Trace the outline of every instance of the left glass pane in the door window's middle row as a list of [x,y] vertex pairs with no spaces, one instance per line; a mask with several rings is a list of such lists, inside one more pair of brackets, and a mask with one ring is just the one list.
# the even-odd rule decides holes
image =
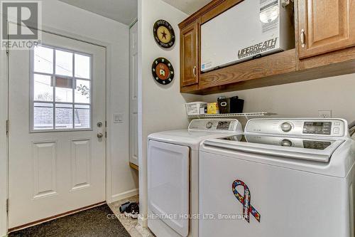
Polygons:
[[33,100],[53,101],[53,85],[50,75],[33,75]]

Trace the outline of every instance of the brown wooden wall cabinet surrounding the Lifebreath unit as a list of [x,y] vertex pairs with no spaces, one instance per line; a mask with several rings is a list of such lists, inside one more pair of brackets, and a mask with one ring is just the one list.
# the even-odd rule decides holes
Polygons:
[[212,0],[179,24],[181,93],[206,95],[355,73],[355,0],[295,0],[294,49],[201,73],[201,25],[241,1]]

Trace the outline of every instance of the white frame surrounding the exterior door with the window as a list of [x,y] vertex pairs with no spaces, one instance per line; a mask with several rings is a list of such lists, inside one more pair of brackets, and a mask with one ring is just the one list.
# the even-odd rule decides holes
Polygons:
[[[2,16],[1,16],[2,17]],[[4,20],[4,19],[3,19]],[[67,31],[62,31],[57,28],[50,26],[41,26],[41,31],[47,33],[53,33],[58,36],[65,38],[71,38],[76,41],[82,41],[83,43],[91,43],[96,46],[101,46],[105,48],[106,53],[106,121],[107,121],[107,131],[110,130],[111,123],[111,50],[113,46],[111,43],[99,41],[93,38],[87,38],[84,36],[77,35],[75,33],[70,33]],[[55,33],[54,33],[55,32]],[[8,62],[9,58],[6,56],[6,51],[0,51],[0,237],[6,236],[8,231],[8,215],[6,211],[6,199],[9,196],[9,154],[8,154],[8,137],[6,136],[6,120],[9,118],[9,90],[8,90]],[[105,190],[106,190],[106,201],[111,201],[112,196],[112,169],[111,169],[111,132],[107,132],[106,140],[106,177],[105,177]]]

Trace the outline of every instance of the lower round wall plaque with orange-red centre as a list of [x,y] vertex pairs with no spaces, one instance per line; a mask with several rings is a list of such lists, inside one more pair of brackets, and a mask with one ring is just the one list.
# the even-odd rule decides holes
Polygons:
[[154,80],[162,85],[168,85],[174,79],[173,65],[166,58],[157,58],[152,65]]

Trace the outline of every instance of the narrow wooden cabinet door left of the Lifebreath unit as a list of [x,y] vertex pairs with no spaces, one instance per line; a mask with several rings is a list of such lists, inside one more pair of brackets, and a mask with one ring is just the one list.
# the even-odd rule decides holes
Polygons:
[[180,33],[180,86],[199,83],[198,23],[182,28]]

